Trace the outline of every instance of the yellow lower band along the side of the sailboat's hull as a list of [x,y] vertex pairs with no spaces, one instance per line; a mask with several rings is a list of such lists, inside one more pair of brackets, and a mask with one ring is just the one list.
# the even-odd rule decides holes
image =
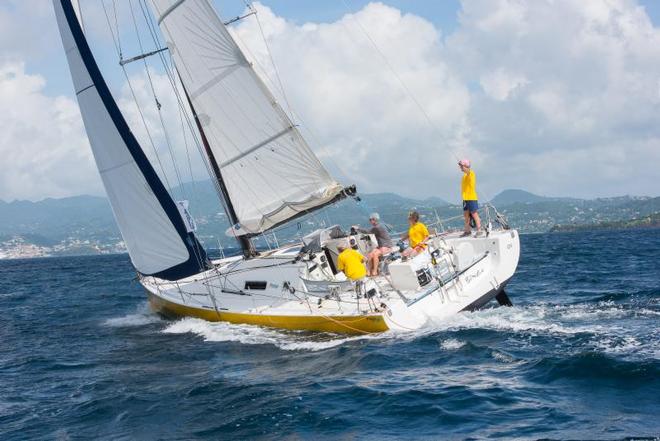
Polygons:
[[152,293],[148,293],[148,295],[151,308],[166,316],[196,317],[210,322],[229,322],[268,326],[271,328],[336,332],[341,334],[373,334],[384,332],[389,329],[381,314],[358,316],[304,316],[243,314],[226,311],[216,312],[211,309],[180,305],[165,300]]

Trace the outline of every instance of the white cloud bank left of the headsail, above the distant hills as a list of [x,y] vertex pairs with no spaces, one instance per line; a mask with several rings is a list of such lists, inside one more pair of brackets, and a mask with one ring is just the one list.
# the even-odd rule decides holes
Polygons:
[[77,103],[44,85],[23,63],[0,64],[0,199],[100,192]]

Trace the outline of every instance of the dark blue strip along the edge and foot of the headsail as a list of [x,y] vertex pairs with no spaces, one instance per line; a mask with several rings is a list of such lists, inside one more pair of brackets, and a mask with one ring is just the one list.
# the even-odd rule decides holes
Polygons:
[[87,44],[87,40],[85,39],[85,35],[83,34],[83,31],[80,27],[80,23],[78,22],[78,18],[73,9],[71,1],[60,1],[64,11],[64,16],[66,17],[67,23],[69,24],[71,34],[73,35],[73,38],[76,42],[80,56],[83,60],[83,63],[85,64],[85,67],[87,68],[87,71],[89,72],[89,76],[91,77],[94,86],[96,86],[96,91],[101,97],[106,111],[110,115],[110,118],[112,118],[112,121],[115,123],[117,131],[119,132],[121,138],[124,140],[126,148],[133,157],[133,160],[135,160],[135,163],[144,175],[147,184],[151,188],[151,191],[153,191],[156,199],[158,199],[158,202],[163,207],[167,217],[170,219],[170,222],[176,229],[177,233],[179,233],[183,244],[188,250],[189,258],[187,261],[158,273],[144,275],[155,276],[166,280],[177,280],[198,274],[201,271],[209,269],[211,264],[206,255],[206,251],[199,243],[194,233],[189,233],[187,231],[183,219],[181,218],[181,214],[179,213],[179,210],[174,203],[174,200],[167,192],[167,189],[165,189],[165,186],[156,174],[154,168],[151,166],[151,163],[147,159],[147,156],[144,154],[144,151],[140,147],[137,139],[135,139],[135,136],[133,136],[133,133],[131,133],[131,130],[126,123],[124,116],[119,111],[119,107],[117,107],[117,103],[112,97],[110,89],[108,89],[108,86],[106,85],[105,80],[101,75],[101,71],[96,64],[94,55],[92,54],[92,51]]

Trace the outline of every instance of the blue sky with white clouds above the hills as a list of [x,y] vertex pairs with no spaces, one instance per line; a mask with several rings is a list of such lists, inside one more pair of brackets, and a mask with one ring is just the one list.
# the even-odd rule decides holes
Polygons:
[[[129,4],[139,12],[141,1],[116,2],[124,57],[140,52]],[[245,10],[240,0],[214,4],[224,19]],[[87,36],[145,151],[161,160],[157,169],[170,184],[173,164],[184,181],[208,177],[186,154],[189,135],[176,130],[178,108],[156,60],[149,72],[160,115],[144,65],[123,75],[102,5],[114,17],[112,0],[82,0]],[[660,195],[657,0],[262,0],[255,7],[284,94],[254,17],[231,32],[280,102],[291,104],[331,173],[363,192],[457,201],[456,159],[465,157],[480,199],[507,188]],[[49,0],[0,2],[0,115],[0,199],[103,194]]]

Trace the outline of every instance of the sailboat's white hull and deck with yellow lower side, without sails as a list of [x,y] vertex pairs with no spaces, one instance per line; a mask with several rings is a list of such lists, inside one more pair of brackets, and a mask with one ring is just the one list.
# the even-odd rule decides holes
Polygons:
[[[515,230],[479,238],[436,236],[427,252],[393,261],[389,276],[366,279],[358,288],[327,265],[319,269],[322,257],[294,261],[299,250],[297,245],[249,260],[222,259],[193,277],[144,277],[141,283],[152,306],[169,315],[315,331],[405,331],[488,303],[513,276],[520,243]],[[413,286],[417,277],[406,276],[406,265],[425,268],[432,278]],[[369,294],[358,296],[356,289]]]

